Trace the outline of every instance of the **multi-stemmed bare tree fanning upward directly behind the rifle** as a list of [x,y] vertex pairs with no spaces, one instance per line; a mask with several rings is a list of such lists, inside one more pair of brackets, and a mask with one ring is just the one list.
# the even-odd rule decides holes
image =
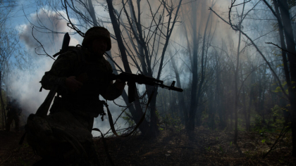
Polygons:
[[[166,48],[168,46],[168,41],[173,32],[173,27],[175,26],[175,23],[177,23],[178,11],[179,11],[181,2],[182,1],[179,1],[178,6],[174,7],[173,2],[171,2],[170,4],[169,1],[161,1],[161,4],[157,9],[156,13],[153,13],[152,8],[149,4],[149,1],[147,1],[147,4],[150,6],[150,13],[152,15],[152,20],[149,27],[144,27],[143,25],[141,25],[142,19],[140,14],[141,13],[140,1],[137,1],[137,11],[138,11],[137,18],[135,16],[135,9],[132,1],[128,1],[129,7],[130,7],[130,15],[126,10],[125,1],[122,1],[123,11],[125,12],[125,16],[128,20],[128,25],[129,25],[129,27],[124,26],[124,28],[128,28],[128,31],[130,31],[133,38],[137,42],[137,46],[140,46],[138,47],[138,49],[135,49],[136,48],[135,47],[136,44],[134,43],[135,41],[131,40],[130,42],[132,42],[132,48],[135,49],[134,51],[131,51],[126,45],[126,41],[125,41],[125,44],[123,44],[123,40],[121,39],[122,34],[121,34],[119,24],[116,20],[116,16],[112,12],[114,11],[113,5],[111,4],[111,1],[107,1],[111,22],[113,24],[113,29],[116,34],[116,39],[118,41],[118,47],[121,51],[121,58],[123,60],[125,71],[131,72],[128,58],[125,53],[126,51],[128,52],[129,57],[135,63],[137,70],[139,70],[141,73],[143,73],[144,75],[148,75],[149,77],[153,77],[155,72],[154,68],[158,66],[156,70],[157,72],[156,79],[159,79],[161,77],[161,70],[164,68]],[[163,10],[160,13],[160,16],[158,18],[159,22],[156,22],[156,14],[158,13],[161,6]],[[175,11],[174,15],[173,15],[173,11]],[[165,21],[164,15],[168,16],[167,23],[164,22]],[[163,29],[164,24],[167,24],[166,29]],[[164,34],[164,32],[166,32],[166,34]],[[161,40],[164,41],[164,46],[161,51],[161,56],[159,57],[158,51],[159,51],[159,44],[161,43]],[[133,52],[135,52],[136,55]],[[140,64],[138,64],[137,58],[140,59],[139,60]],[[142,68],[140,66],[142,66]],[[156,95],[157,95],[158,89],[157,87],[146,86],[146,91],[147,91],[147,96],[153,95],[152,101],[150,103],[149,134],[150,136],[155,137],[159,134],[159,127],[157,125],[157,123],[159,122],[159,117],[157,117],[156,115]]]

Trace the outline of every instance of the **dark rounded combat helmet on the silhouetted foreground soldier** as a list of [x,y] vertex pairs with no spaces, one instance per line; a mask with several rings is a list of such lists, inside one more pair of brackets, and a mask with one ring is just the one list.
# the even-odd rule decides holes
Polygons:
[[87,32],[85,32],[85,38],[82,41],[82,46],[89,45],[92,40],[102,37],[107,41],[107,49],[106,51],[110,51],[111,49],[111,38],[110,32],[104,27],[91,27]]

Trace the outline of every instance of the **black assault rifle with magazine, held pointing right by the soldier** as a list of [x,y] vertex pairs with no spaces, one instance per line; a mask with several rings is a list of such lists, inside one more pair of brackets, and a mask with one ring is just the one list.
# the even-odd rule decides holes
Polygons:
[[173,91],[180,91],[182,92],[183,89],[175,87],[175,81],[172,82],[171,86],[164,85],[164,81],[159,79],[155,79],[154,77],[148,77],[146,75],[134,75],[128,72],[121,72],[119,75],[110,75],[109,79],[121,79],[123,82],[128,82],[128,102],[132,103],[135,101],[135,83],[137,84],[146,84],[154,87],[161,87],[168,90]]

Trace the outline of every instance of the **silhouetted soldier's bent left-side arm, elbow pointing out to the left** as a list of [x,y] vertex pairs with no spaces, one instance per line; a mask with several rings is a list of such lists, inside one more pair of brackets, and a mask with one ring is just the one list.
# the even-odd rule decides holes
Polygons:
[[73,51],[61,55],[51,67],[51,70],[45,72],[41,84],[44,89],[51,89],[55,84],[66,88],[66,79],[70,77],[70,71],[75,68],[78,56]]

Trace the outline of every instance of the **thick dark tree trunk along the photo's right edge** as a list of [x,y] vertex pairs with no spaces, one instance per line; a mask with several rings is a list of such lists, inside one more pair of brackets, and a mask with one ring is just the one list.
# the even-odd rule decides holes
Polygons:
[[274,8],[272,8],[266,0],[264,0],[264,3],[269,7],[278,21],[277,23],[280,34],[280,47],[282,49],[285,81],[287,82],[289,92],[289,94],[286,96],[288,96],[290,101],[293,145],[292,155],[296,156],[296,50],[291,25],[292,20],[290,19],[290,11],[287,0],[273,0]]

